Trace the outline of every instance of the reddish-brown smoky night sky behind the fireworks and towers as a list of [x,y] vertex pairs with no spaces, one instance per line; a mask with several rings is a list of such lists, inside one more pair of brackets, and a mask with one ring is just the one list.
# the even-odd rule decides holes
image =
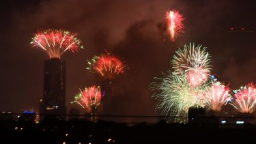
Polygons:
[[[0,111],[38,111],[43,96],[44,60],[41,48],[32,48],[33,33],[44,29],[66,29],[78,33],[85,49],[66,52],[66,106],[79,88],[98,83],[100,77],[85,68],[87,59],[112,51],[128,65],[115,80],[113,115],[158,115],[150,96],[154,77],[171,69],[177,48],[195,42],[212,56],[212,74],[238,89],[256,83],[256,9],[254,1],[1,1]],[[169,40],[165,11],[183,14],[184,31]],[[244,28],[244,31],[230,32]],[[246,32],[246,31],[251,32]],[[166,40],[166,41],[165,41]]]

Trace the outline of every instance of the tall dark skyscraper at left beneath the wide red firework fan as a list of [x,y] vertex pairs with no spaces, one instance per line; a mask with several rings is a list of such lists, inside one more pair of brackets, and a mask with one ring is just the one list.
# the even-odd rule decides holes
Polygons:
[[66,62],[60,59],[44,61],[44,96],[40,99],[43,120],[64,119],[66,87]]

